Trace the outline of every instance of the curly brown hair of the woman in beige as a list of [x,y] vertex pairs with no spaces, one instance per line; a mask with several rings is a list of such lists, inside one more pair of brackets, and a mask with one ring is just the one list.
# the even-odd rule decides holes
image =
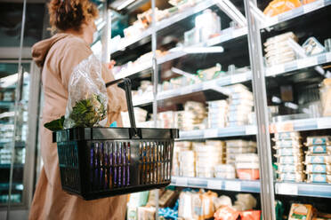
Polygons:
[[74,29],[79,31],[81,25],[98,17],[95,4],[89,0],[52,0],[48,4],[52,32]]

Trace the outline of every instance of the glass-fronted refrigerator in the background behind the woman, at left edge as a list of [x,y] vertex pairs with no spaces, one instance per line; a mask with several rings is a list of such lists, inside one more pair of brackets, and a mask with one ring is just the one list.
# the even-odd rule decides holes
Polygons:
[[31,61],[22,62],[20,80],[17,61],[2,60],[0,66],[3,67],[0,78],[0,207],[8,205],[11,194],[12,207],[26,208],[35,184],[36,106],[40,78]]

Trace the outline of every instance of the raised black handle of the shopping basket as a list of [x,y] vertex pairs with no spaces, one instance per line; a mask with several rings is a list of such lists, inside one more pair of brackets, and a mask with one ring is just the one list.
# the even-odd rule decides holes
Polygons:
[[130,124],[134,132],[133,135],[137,135],[138,132],[137,132],[137,127],[135,126],[134,113],[133,113],[133,98],[131,95],[131,80],[129,78],[121,78],[106,83],[106,87],[122,82],[125,84],[126,105],[127,105],[127,111],[129,112]]

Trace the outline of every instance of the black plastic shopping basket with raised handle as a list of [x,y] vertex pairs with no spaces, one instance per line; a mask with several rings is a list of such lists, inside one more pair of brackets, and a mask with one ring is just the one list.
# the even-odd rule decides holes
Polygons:
[[131,128],[73,128],[53,132],[62,189],[85,200],[170,184],[175,129],[136,128],[131,81],[124,82]]

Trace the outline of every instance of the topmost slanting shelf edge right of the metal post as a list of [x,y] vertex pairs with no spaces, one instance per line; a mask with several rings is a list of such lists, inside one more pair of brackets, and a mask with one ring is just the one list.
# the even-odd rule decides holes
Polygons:
[[281,22],[295,19],[295,18],[302,16],[304,14],[307,14],[309,12],[318,11],[319,9],[321,9],[323,7],[327,7],[330,4],[331,4],[330,0],[318,0],[318,1],[312,2],[310,4],[303,4],[303,6],[301,6],[301,7],[295,8],[288,12],[283,12],[283,13],[279,14],[278,16],[271,17],[264,23],[264,26],[262,26],[262,28],[274,26]]

